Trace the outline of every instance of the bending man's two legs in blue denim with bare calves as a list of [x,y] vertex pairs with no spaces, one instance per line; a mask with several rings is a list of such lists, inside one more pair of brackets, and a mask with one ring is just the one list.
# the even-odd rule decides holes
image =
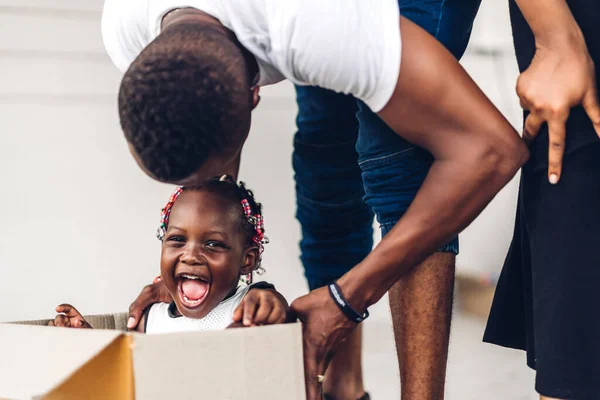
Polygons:
[[[398,3],[402,16],[427,30],[456,58],[462,56],[480,0]],[[297,218],[302,263],[314,290],[337,280],[371,252],[373,211],[385,235],[406,212],[433,160],[350,95],[299,85],[296,93]],[[369,159],[387,161],[373,165]],[[399,194],[374,196],[370,191],[367,205],[359,161],[371,179],[395,171],[393,182],[387,183]],[[457,253],[455,238],[388,292],[405,399],[443,398]],[[365,393],[360,338],[359,326],[327,368],[323,391],[331,399],[361,399]]]

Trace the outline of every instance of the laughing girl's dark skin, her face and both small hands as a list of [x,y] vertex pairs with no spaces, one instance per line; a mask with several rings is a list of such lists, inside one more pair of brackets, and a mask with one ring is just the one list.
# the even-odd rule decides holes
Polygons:
[[[188,318],[205,317],[223,300],[231,297],[240,276],[254,271],[258,247],[249,244],[241,229],[241,206],[207,191],[184,191],[173,205],[161,251],[160,281],[175,301],[179,313]],[[196,277],[206,283],[203,301],[190,307],[183,297],[182,281]],[[60,313],[50,326],[91,328],[69,304],[56,308]],[[283,323],[288,304],[275,290],[252,289],[234,311],[234,320],[244,326]],[[143,331],[143,319],[137,331]]]

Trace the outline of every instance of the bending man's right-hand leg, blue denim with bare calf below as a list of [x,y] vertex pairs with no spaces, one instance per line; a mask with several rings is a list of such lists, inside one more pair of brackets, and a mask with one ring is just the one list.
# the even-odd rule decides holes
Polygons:
[[[457,58],[466,48],[480,0],[399,0],[401,13],[426,29]],[[367,202],[385,235],[406,211],[433,161],[395,135],[361,104],[357,144]],[[414,268],[389,292],[402,399],[444,397],[452,298],[455,240]]]

